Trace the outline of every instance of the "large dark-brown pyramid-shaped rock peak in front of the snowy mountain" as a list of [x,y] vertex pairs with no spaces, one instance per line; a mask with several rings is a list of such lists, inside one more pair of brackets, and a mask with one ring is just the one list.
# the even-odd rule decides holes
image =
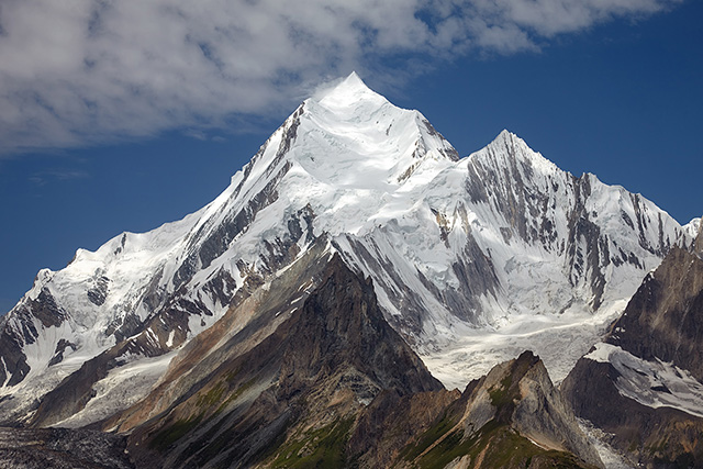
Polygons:
[[[140,464],[160,458],[168,467],[247,467],[301,432],[326,428],[346,438],[356,414],[381,390],[412,395],[442,389],[388,325],[370,282],[338,256],[304,302],[278,313],[283,322],[248,350],[239,348],[242,355],[217,354],[217,366],[196,382],[189,375],[175,379],[189,381],[179,388],[186,393],[132,432]],[[258,334],[254,320],[226,348],[237,350],[235,343]],[[107,425],[127,429],[135,413]]]

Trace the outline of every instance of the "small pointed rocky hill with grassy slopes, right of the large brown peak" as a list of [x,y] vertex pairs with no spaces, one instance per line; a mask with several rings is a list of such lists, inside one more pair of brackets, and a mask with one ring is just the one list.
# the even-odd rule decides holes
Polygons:
[[411,467],[602,467],[531,351],[469,383],[406,451]]

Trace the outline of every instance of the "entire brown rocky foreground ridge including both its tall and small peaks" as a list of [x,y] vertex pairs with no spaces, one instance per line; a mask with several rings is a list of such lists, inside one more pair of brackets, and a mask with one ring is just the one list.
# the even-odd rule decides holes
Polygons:
[[[186,350],[171,371],[203,369],[144,401],[158,413],[137,405],[104,424],[130,434],[137,467],[601,466],[537,357],[446,391],[386,322],[370,281],[328,256],[306,260],[315,287],[293,311],[252,297],[247,326],[211,340],[231,355]],[[261,310],[283,319],[254,339]]]

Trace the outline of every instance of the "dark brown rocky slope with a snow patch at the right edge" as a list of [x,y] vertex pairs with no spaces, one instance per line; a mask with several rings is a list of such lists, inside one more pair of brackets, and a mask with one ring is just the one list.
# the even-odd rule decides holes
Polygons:
[[647,467],[703,467],[703,259],[674,248],[562,391]]

